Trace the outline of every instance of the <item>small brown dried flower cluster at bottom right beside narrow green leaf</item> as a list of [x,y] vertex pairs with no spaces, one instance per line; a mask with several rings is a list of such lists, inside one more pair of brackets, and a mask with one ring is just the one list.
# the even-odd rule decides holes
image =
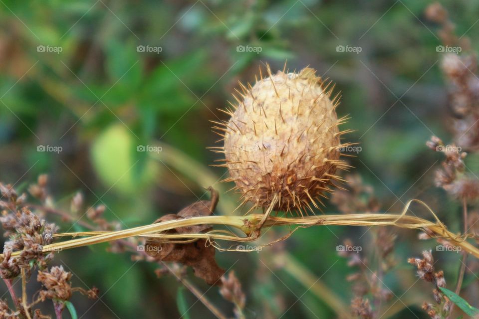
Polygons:
[[446,279],[442,270],[436,272],[434,269],[434,258],[429,251],[423,251],[423,259],[409,258],[408,263],[415,265],[418,269],[419,278],[429,283],[434,283],[436,288],[433,290],[433,296],[436,304],[424,303],[423,309],[427,311],[431,319],[449,319],[452,302],[444,296],[439,287],[446,287]]

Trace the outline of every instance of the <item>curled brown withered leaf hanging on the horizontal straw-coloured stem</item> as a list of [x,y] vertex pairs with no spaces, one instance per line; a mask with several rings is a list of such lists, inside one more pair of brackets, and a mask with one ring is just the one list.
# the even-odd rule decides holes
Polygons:
[[[216,208],[219,195],[212,187],[209,188],[211,192],[211,200],[197,201],[185,208],[178,214],[168,214],[157,219],[155,223],[165,221],[191,218],[199,216],[210,216]],[[212,230],[211,225],[193,225],[178,227],[170,229],[163,234],[194,234],[206,233]],[[221,283],[221,276],[225,270],[220,268],[215,260],[215,247],[207,246],[205,239],[198,239],[194,242],[181,244],[169,243],[160,240],[159,238],[148,238],[145,243],[145,252],[165,262],[176,262],[193,268],[195,275],[202,278],[209,285],[216,285]]]

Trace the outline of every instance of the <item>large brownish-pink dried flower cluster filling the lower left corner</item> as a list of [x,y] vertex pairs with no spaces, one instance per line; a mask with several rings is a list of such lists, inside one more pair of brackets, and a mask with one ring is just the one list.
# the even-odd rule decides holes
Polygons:
[[[46,191],[47,176],[40,175],[38,182],[29,187],[30,193],[41,201],[47,201],[48,193]],[[63,268],[52,267],[47,269],[47,263],[53,258],[53,252],[45,254],[42,252],[43,246],[53,242],[53,234],[58,227],[52,223],[47,223],[44,219],[34,214],[26,207],[26,194],[18,196],[11,185],[0,183],[1,211],[0,223],[4,229],[4,236],[8,237],[3,246],[3,257],[0,262],[0,277],[3,279],[10,292],[15,310],[9,308],[5,301],[0,301],[0,319],[46,319],[41,312],[31,309],[27,300],[17,298],[12,288],[12,280],[21,276],[22,283],[26,283],[31,273],[38,268],[37,280],[41,282],[44,290],[39,291],[38,298],[32,302],[35,305],[51,299],[54,304],[57,318],[61,318],[61,312],[64,308],[63,302],[70,299],[72,292],[79,291],[89,298],[96,298],[98,291],[93,288],[84,290],[81,288],[72,288],[70,279],[71,273],[65,272]],[[81,206],[80,198],[76,197],[77,207]],[[44,209],[48,210],[48,209]],[[20,254],[12,257],[13,251],[20,251]],[[22,286],[25,290],[26,286]],[[23,292],[26,295],[26,291]]]

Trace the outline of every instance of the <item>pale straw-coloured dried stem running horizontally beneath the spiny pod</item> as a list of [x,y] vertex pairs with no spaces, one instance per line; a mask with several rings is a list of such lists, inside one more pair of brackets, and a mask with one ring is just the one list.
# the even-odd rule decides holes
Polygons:
[[[406,215],[409,206],[413,201],[417,201],[427,207],[431,214],[435,217],[436,222],[432,222],[416,216]],[[177,227],[185,227],[202,224],[216,224],[227,225],[235,227],[243,231],[246,237],[238,237],[233,235],[223,235],[215,232],[208,234],[180,234],[180,235],[165,235],[155,234],[157,238],[164,238],[165,240],[175,238],[183,239],[198,239],[208,238],[212,240],[230,240],[236,242],[253,241],[257,237],[251,236],[257,230],[257,225],[264,218],[262,214],[251,214],[247,216],[203,216],[193,217],[187,219],[171,220],[146,226],[139,226],[130,229],[105,232],[98,235],[93,235],[85,238],[77,238],[63,242],[45,245],[43,251],[58,251],[63,249],[70,249],[75,247],[82,247],[103,242],[109,242],[119,239],[124,239],[132,236],[142,236],[147,234],[154,234],[164,232],[169,229]],[[433,237],[445,238],[451,241],[452,244],[461,247],[465,252],[479,258],[479,249],[466,241],[465,237],[460,234],[454,234],[447,230],[446,226],[437,218],[436,214],[424,203],[419,200],[411,200],[408,202],[401,214],[338,214],[338,215],[322,215],[322,216],[305,216],[305,217],[269,217],[263,227],[297,225],[302,227],[321,226],[321,225],[339,225],[339,226],[397,226],[408,229],[421,229],[427,231]],[[77,236],[84,235],[83,233],[70,233]],[[88,233],[87,233],[88,234]],[[61,234],[60,234],[61,235]],[[20,252],[12,253],[12,256],[18,255]]]

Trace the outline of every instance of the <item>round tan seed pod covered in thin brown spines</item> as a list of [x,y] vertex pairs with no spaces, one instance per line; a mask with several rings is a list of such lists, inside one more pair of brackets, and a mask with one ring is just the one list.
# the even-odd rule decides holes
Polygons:
[[[340,132],[345,122],[336,114],[339,94],[330,99],[332,89],[325,85],[315,70],[304,68],[299,73],[278,71],[256,79],[253,87],[240,83],[242,92],[224,111],[231,116],[224,123],[214,122],[223,137],[224,147],[213,148],[225,154],[225,164],[242,199],[253,207],[276,211],[299,211],[331,192],[337,168],[349,167],[340,160]],[[220,141],[222,141],[220,140]],[[321,203],[322,204],[322,203]]]

